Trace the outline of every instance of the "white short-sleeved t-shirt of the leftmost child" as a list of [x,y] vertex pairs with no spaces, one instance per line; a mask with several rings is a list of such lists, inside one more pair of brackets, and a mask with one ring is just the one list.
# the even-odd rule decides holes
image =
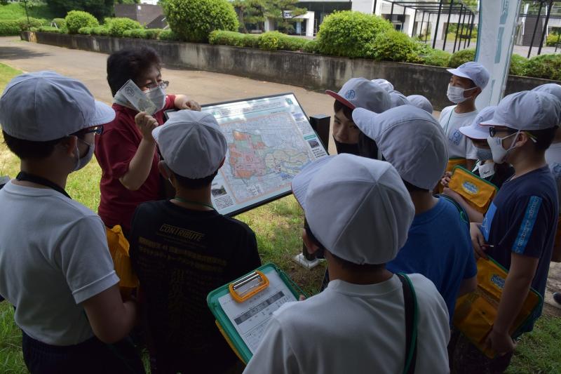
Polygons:
[[0,206],[0,295],[15,323],[49,345],[91,338],[81,302],[119,282],[102,220],[53,189],[13,182]]

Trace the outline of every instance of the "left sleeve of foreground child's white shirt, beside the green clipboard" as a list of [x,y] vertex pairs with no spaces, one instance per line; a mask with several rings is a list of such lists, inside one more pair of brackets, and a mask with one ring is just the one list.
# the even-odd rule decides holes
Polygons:
[[283,327],[276,318],[271,318],[257,351],[243,373],[296,374],[301,372],[290,342],[283,333]]

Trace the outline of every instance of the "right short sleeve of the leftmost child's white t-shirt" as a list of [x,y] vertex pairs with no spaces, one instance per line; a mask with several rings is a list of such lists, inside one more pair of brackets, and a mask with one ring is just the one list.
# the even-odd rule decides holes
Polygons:
[[119,283],[99,217],[86,216],[73,222],[62,234],[55,260],[76,304]]

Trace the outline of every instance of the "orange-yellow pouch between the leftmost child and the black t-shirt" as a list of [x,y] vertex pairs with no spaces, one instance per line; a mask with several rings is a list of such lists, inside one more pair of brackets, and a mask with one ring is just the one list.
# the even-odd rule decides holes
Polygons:
[[109,245],[109,253],[113,258],[115,265],[115,272],[119,276],[119,287],[137,288],[138,278],[133,272],[133,267],[130,265],[130,257],[128,256],[128,241],[123,234],[121,226],[116,225],[112,229],[105,227],[107,233],[107,244]]

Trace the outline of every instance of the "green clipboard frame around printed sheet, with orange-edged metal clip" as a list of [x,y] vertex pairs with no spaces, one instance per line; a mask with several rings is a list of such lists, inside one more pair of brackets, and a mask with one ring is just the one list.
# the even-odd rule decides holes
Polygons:
[[[271,278],[273,276],[280,278],[280,280],[284,283],[286,288],[288,288],[288,290],[290,290],[290,293],[292,294],[292,295],[285,295],[287,299],[293,298],[293,300],[286,300],[286,301],[297,301],[299,295],[305,296],[304,292],[299,288],[299,286],[296,283],[294,283],[294,281],[292,281],[292,279],[290,279],[288,275],[286,275],[285,272],[280,270],[276,265],[268,263],[266,265],[263,265],[262,267],[257,268],[255,271],[262,272],[262,274],[264,274],[267,278]],[[231,349],[234,350],[234,352],[239,357],[239,359],[241,359],[241,361],[243,361],[243,363],[245,364],[247,364],[250,361],[253,354],[250,348],[248,347],[248,345],[246,345],[241,335],[238,333],[238,330],[236,330],[236,328],[234,327],[235,322],[232,319],[233,317],[228,316],[227,313],[224,312],[224,309],[222,309],[222,305],[220,304],[219,300],[226,295],[230,295],[231,284],[235,284],[243,279],[248,279],[248,277],[252,276],[252,274],[254,274],[255,271],[249,272],[248,274],[241,276],[235,281],[225,284],[224,286],[211,291],[206,298],[206,302],[208,304],[210,312],[212,312],[212,314],[214,314],[216,318],[217,328],[220,330],[220,333],[222,333],[222,335],[224,336],[224,339],[227,340]],[[264,290],[262,290],[261,292],[264,292]],[[259,294],[257,293],[257,295]],[[252,298],[251,300],[238,303],[238,305],[244,305],[246,302],[257,303],[257,305],[255,305],[254,307],[250,307],[250,304],[248,304],[248,308],[250,309],[248,309],[247,313],[255,312],[255,310],[262,308],[263,305],[267,305],[267,306],[270,305],[268,304],[270,300],[255,301],[259,297],[257,295],[255,296],[255,298]],[[227,300],[227,299],[223,299],[223,300]],[[232,298],[231,302],[236,302],[236,301]],[[238,319],[234,318],[234,320],[238,320]]]

